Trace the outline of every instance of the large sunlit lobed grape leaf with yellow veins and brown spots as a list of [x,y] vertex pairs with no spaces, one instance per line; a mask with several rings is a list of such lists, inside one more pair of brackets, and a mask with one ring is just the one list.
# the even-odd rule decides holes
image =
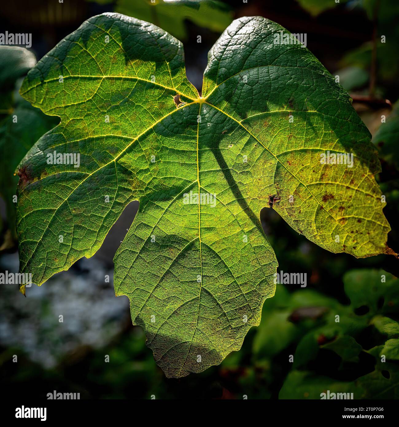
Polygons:
[[[139,200],[114,287],[168,377],[220,363],[259,325],[277,269],[262,208],[331,252],[392,253],[369,132],[309,50],[273,43],[280,30],[234,21],[210,51],[200,97],[179,41],[107,13],[21,88],[61,117],[18,168],[21,272],[42,284],[92,256]],[[47,164],[54,150],[80,154],[80,167]],[[321,164],[326,150],[353,153],[353,167]]]

